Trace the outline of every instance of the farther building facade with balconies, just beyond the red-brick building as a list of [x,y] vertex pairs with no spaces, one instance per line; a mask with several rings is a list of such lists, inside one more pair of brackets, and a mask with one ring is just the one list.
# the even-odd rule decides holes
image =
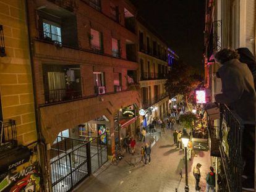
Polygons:
[[153,119],[163,119],[169,110],[169,97],[164,84],[174,59],[178,57],[140,17],[138,35],[142,109],[147,112],[143,117],[143,126],[147,127]]

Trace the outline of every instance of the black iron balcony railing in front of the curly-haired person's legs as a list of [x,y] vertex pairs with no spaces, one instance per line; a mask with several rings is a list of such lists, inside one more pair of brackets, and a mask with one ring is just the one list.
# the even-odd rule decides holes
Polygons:
[[[220,105],[220,154],[226,175],[225,188],[232,192],[242,191],[242,144],[245,125],[242,119],[226,105]],[[223,128],[226,126],[227,128]],[[252,125],[255,126],[255,125]],[[228,130],[228,131],[226,131]]]

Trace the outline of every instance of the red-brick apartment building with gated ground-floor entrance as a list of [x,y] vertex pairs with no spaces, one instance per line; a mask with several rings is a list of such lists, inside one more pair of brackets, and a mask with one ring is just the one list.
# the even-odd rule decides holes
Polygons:
[[[72,190],[95,172],[113,154],[115,136],[132,131],[137,121],[135,14],[129,1],[28,1],[36,111],[46,145],[41,154],[51,191]],[[126,120],[122,110],[134,111],[134,118]]]

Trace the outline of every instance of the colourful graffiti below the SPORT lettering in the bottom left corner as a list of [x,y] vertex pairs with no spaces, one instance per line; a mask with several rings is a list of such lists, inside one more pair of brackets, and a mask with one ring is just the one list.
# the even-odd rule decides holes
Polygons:
[[40,173],[36,154],[30,161],[0,175],[0,192],[40,191]]

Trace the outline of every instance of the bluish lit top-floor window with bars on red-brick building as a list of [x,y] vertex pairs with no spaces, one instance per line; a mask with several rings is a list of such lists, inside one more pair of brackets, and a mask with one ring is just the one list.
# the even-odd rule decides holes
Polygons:
[[61,26],[57,23],[43,20],[43,37],[46,40],[61,43]]

